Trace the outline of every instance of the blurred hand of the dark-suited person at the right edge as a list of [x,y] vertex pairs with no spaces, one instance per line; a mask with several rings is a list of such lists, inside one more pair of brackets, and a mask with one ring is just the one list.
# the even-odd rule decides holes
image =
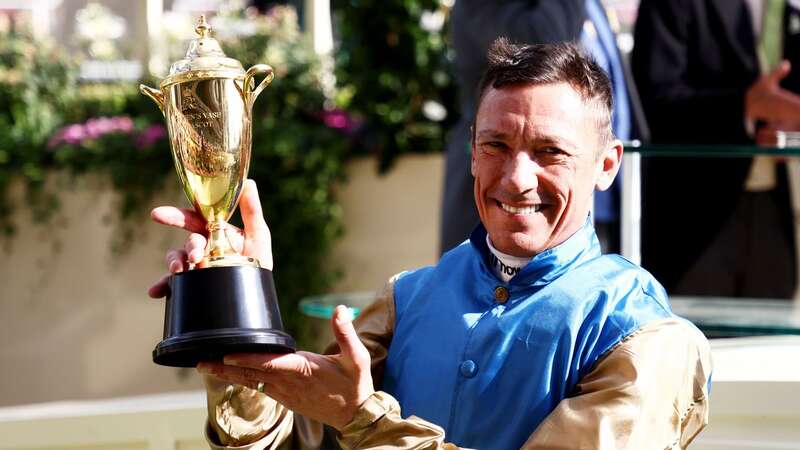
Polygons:
[[783,89],[781,80],[792,70],[789,61],[762,75],[745,94],[745,118],[753,122],[792,123],[800,117],[800,95]]

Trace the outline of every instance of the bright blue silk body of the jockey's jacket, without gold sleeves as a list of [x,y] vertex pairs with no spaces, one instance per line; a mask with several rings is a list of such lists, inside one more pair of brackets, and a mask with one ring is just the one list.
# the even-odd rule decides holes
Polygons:
[[394,298],[382,389],[404,417],[482,450],[520,448],[599,358],[673,317],[648,272],[601,255],[588,221],[508,283],[492,272],[479,227],[436,266],[403,274]]

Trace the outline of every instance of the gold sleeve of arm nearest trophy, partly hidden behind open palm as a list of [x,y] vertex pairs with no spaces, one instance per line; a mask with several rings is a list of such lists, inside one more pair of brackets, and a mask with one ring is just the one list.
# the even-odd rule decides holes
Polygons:
[[[380,386],[383,365],[394,334],[393,277],[377,294],[375,302],[353,322],[361,342],[372,358],[372,379]],[[336,344],[324,353],[338,353]],[[266,395],[244,386],[230,385],[213,376],[204,376],[208,398],[206,440],[212,449],[319,448],[334,437],[325,436],[325,428],[293,414]],[[377,389],[377,388],[376,388]]]

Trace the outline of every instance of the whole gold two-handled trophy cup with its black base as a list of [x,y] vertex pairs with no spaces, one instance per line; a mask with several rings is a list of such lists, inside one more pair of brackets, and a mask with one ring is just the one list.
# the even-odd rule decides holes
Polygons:
[[[139,86],[166,118],[181,185],[209,232],[202,268],[169,280],[164,340],[153,361],[173,367],[231,353],[295,350],[283,331],[272,272],[236,253],[226,234],[250,165],[253,102],[272,81],[272,68],[258,64],[245,72],[209,35],[205,16],[196,31],[160,90]],[[258,75],[264,79],[256,84]]]

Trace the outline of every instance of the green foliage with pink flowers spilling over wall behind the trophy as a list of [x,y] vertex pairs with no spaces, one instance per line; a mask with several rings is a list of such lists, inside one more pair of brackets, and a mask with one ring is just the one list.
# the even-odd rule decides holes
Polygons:
[[[250,177],[272,229],[283,318],[297,333],[297,302],[324,292],[335,276],[323,262],[341,233],[331,187],[342,177],[348,140],[325,126],[333,86],[325,85],[322,61],[298,30],[294,11],[278,8],[247,21],[254,34],[219,40],[245,68],[267,63],[276,69],[253,112]],[[56,193],[46,192],[48,173],[100,174],[119,194],[114,226],[122,231],[116,243],[122,248],[133,229],[125,219],[141,223],[152,195],[178,183],[164,119],[138,83],[80,84],[76,73],[75,63],[51,44],[15,30],[0,35],[0,224],[13,230],[12,177],[26,180],[27,206],[46,220],[57,207]]]

